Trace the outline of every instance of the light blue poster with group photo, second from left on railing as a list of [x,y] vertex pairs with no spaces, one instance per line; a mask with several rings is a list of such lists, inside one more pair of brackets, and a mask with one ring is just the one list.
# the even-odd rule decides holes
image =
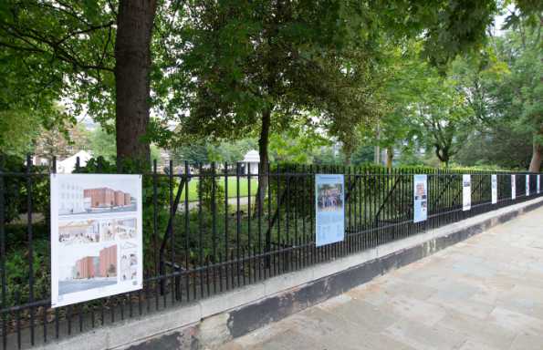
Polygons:
[[345,239],[345,179],[342,174],[315,175],[315,238],[322,246]]

